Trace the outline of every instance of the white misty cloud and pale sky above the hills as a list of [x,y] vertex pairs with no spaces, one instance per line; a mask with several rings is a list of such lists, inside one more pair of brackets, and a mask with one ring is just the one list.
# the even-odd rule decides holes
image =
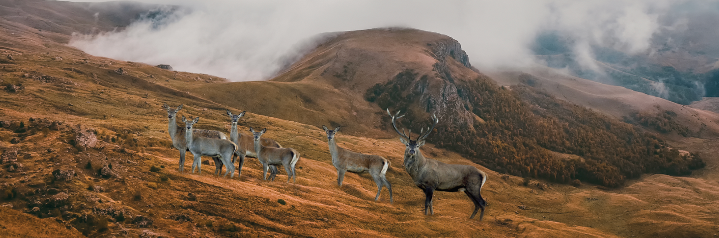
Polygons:
[[[91,55],[231,81],[271,78],[318,42],[317,35],[377,27],[412,27],[449,35],[477,68],[536,63],[531,47],[541,32],[569,37],[577,60],[592,67],[591,45],[629,54],[651,50],[662,19],[682,0],[157,0],[183,6],[162,19],[122,31],[73,35],[70,45]],[[162,10],[162,8],[160,9]],[[663,20],[663,21],[660,21]]]

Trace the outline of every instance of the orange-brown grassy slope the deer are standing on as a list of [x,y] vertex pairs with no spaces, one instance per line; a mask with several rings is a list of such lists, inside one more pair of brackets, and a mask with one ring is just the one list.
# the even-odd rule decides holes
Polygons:
[[[0,92],[0,156],[7,158],[0,172],[1,199],[14,209],[0,210],[5,216],[24,212],[32,215],[27,222],[36,224],[39,219],[56,217],[40,224],[58,222],[60,227],[70,227],[72,234],[89,237],[709,237],[719,229],[717,218],[707,216],[719,212],[719,189],[707,180],[646,175],[611,191],[591,185],[546,186],[541,180],[528,180],[528,186],[523,186],[522,178],[500,175],[431,144],[423,147],[429,156],[487,172],[489,180],[482,191],[490,206],[485,221],[468,220],[467,209],[472,204],[464,194],[436,193],[435,215],[424,216],[423,194],[401,166],[403,145],[395,138],[381,138],[394,137],[386,131],[379,139],[362,136],[379,132],[377,128],[388,123],[380,114],[372,115],[382,109],[363,99],[366,89],[375,85],[372,83],[383,81],[370,81],[365,91],[365,86],[357,86],[359,90],[347,86],[349,93],[342,87],[302,81],[227,85],[224,79],[211,75],[86,55],[66,47],[61,40],[47,40],[22,24],[0,19],[0,26],[14,27],[17,33],[0,35],[1,42],[17,42],[0,50],[3,55],[12,55],[12,60],[5,56],[0,63],[1,79],[24,87],[17,92]],[[413,30],[399,36],[403,34],[427,33]],[[452,75],[473,73],[458,56],[460,60],[444,58],[447,65],[457,68]],[[337,67],[344,73],[344,65]],[[414,72],[424,73],[422,70],[416,68]],[[387,73],[384,80],[395,81],[400,73],[403,70]],[[236,84],[238,90],[246,86],[247,99],[242,100],[247,105],[261,106],[249,110],[244,103],[230,104],[213,98],[219,93],[208,89]],[[319,96],[316,88],[349,95],[344,100],[352,99],[350,96],[362,100],[370,111],[367,115],[376,116],[358,119],[362,127],[351,134],[343,130],[338,139],[342,147],[383,155],[391,161],[388,179],[393,183],[395,203],[388,203],[386,190],[379,202],[372,201],[375,185],[367,174],[348,174],[344,186],[335,186],[336,171],[325,136],[318,128],[333,115],[316,119],[311,112],[319,110],[310,111],[304,113],[306,119],[298,119],[300,122],[260,115],[284,104],[334,105],[339,101]],[[300,104],[298,99],[283,98],[289,91],[313,101]],[[277,100],[286,101],[262,104],[262,94],[273,93],[279,95]],[[180,114],[201,116],[197,127],[223,132],[229,132],[225,109],[248,110],[241,130],[267,127],[267,137],[302,153],[298,183],[280,182],[283,174],[277,182],[259,180],[260,166],[252,158],[239,179],[216,178],[210,174],[211,165],[205,165],[202,175],[179,173],[179,155],[171,147],[165,131],[166,114],[160,109],[164,103],[185,104]],[[336,114],[352,114],[347,108],[336,107],[344,110]],[[76,134],[87,130],[99,139],[94,147],[83,147],[75,140]],[[17,157],[12,156],[14,152]],[[153,166],[160,170],[151,172]],[[2,224],[0,234],[4,227],[27,227],[17,221]]]

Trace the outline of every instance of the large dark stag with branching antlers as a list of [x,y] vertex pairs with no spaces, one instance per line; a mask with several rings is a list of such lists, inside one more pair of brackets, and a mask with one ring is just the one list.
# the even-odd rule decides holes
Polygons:
[[475,211],[472,212],[470,219],[474,219],[477,210],[482,209],[482,213],[480,213],[480,221],[482,221],[487,202],[482,198],[480,191],[482,191],[482,186],[484,186],[487,181],[487,174],[471,165],[441,163],[437,160],[424,157],[421,150],[419,150],[419,147],[424,145],[425,139],[439,122],[437,116],[432,114],[432,121],[434,123],[431,128],[427,127],[427,132],[424,132],[423,128],[421,132],[419,132],[417,139],[411,139],[411,130],[408,136],[404,133],[404,129],[402,129],[402,132],[397,129],[396,120],[405,115],[398,116],[400,114],[399,111],[393,115],[389,109],[387,109],[387,114],[392,116],[392,127],[395,129],[395,132],[400,135],[400,142],[406,147],[404,155],[405,170],[412,177],[414,184],[418,188],[421,188],[426,196],[424,201],[424,214],[427,215],[429,211],[430,215],[434,215],[434,208],[432,207],[434,191],[463,191],[470,197],[470,200],[475,203]]

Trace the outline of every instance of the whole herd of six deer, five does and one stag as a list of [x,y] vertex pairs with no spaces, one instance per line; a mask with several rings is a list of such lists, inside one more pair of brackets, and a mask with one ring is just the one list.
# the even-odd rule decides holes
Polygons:
[[[168,104],[162,106],[163,109],[168,111],[168,119],[170,119],[168,132],[173,139],[173,146],[180,151],[180,172],[184,171],[185,153],[189,151],[193,155],[192,173],[195,173],[195,168],[198,169],[198,173],[201,173],[202,163],[200,157],[204,155],[212,157],[215,161],[216,175],[219,175],[222,165],[224,165],[227,168],[224,176],[229,173],[230,178],[234,178],[234,162],[235,158],[239,157],[239,168],[237,169],[239,178],[239,175],[242,174],[244,158],[249,156],[260,160],[263,169],[263,180],[267,180],[267,170],[270,170],[269,179],[275,180],[275,175],[278,173],[277,165],[283,165],[285,171],[287,171],[288,183],[290,178],[293,182],[296,180],[295,165],[300,158],[300,153],[292,148],[280,146],[273,139],[262,138],[262,134],[265,134],[267,129],[257,132],[252,127],[249,127],[249,132],[252,132],[252,135],[237,132],[237,122],[240,117],[244,116],[244,111],[239,114],[232,114],[231,111],[227,110],[227,115],[232,122],[232,129],[228,139],[222,132],[193,129],[193,125],[199,121],[199,117],[188,120],[185,116],[182,116],[185,127],[179,127],[176,122],[176,115],[182,107],[183,105],[180,105],[177,109],[173,109]],[[390,114],[390,111],[388,110],[387,113]],[[426,215],[428,212],[429,214],[434,214],[434,209],[432,208],[434,191],[463,191],[475,203],[475,211],[472,212],[470,219],[475,218],[477,211],[482,209],[480,213],[481,221],[482,216],[485,214],[487,203],[480,195],[480,191],[487,180],[487,174],[470,165],[446,164],[424,157],[419,147],[424,145],[425,139],[437,125],[439,119],[432,115],[432,127],[427,128],[426,132],[422,129],[417,139],[411,139],[411,131],[407,135],[404,129],[402,129],[402,132],[397,129],[396,120],[404,116],[398,115],[399,111],[394,115],[390,114],[392,116],[392,127],[400,135],[400,142],[406,146],[403,160],[405,170],[411,176],[415,185],[421,188],[426,196],[424,214]],[[347,171],[352,173],[369,172],[372,179],[377,183],[375,201],[380,198],[383,186],[387,186],[390,191],[390,203],[392,203],[392,186],[385,178],[385,173],[390,166],[389,160],[379,155],[365,155],[339,147],[335,140],[339,127],[328,129],[323,125],[322,128],[326,132],[329,141],[332,165],[337,169],[337,185],[342,186],[344,173]]]

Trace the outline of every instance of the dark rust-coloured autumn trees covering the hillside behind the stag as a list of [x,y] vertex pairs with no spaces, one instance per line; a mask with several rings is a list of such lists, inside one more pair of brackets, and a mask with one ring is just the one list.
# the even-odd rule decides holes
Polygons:
[[[367,99],[390,111],[412,111],[409,107],[418,105],[418,93],[411,82],[418,80],[408,78],[417,77],[400,73],[370,88]],[[500,173],[616,187],[644,173],[687,175],[705,165],[697,155],[681,155],[667,147],[655,134],[530,86],[510,90],[483,75],[455,84],[469,111],[484,122],[475,120],[473,129],[440,124],[428,142]],[[429,121],[416,117],[408,114],[406,120]],[[551,151],[581,158],[557,158]]]

